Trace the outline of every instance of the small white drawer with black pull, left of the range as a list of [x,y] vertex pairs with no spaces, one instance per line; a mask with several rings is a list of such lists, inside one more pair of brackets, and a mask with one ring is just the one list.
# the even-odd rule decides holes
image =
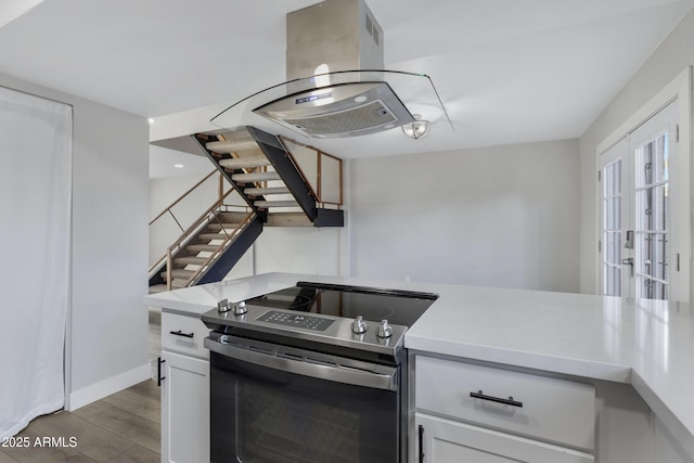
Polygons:
[[162,312],[162,349],[207,359],[209,351],[203,339],[208,334],[209,329],[196,316]]

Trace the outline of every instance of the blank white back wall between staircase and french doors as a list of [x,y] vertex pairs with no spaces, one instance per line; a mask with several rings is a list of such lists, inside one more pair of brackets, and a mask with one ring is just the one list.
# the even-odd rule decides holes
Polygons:
[[349,163],[351,275],[578,291],[578,141]]

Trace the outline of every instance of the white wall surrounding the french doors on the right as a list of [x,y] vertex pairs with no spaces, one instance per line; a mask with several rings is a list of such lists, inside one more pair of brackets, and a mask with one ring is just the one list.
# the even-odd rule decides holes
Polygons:
[[580,139],[580,292],[597,287],[597,158],[605,138],[648,102],[686,66],[694,64],[694,10],[660,43],[627,86],[615,97]]

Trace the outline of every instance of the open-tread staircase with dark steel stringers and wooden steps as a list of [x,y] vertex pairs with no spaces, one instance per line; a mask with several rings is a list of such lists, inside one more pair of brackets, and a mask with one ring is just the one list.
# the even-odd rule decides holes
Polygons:
[[[264,227],[344,226],[343,210],[339,209],[339,159],[331,156],[338,160],[340,201],[323,202],[320,159],[327,156],[324,153],[301,146],[316,156],[317,170],[311,181],[290,152],[292,146],[299,146],[295,142],[253,127],[192,137],[232,188],[222,195],[220,178],[219,201],[183,231],[166,255],[150,268],[150,293],[222,280],[253,245]],[[231,192],[245,204],[226,205],[224,198]],[[172,206],[167,209],[169,213]],[[178,223],[176,218],[174,220]]]

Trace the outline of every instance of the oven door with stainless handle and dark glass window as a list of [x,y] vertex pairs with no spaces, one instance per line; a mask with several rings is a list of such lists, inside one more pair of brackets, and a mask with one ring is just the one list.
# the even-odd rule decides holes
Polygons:
[[205,339],[213,463],[399,463],[397,368]]

